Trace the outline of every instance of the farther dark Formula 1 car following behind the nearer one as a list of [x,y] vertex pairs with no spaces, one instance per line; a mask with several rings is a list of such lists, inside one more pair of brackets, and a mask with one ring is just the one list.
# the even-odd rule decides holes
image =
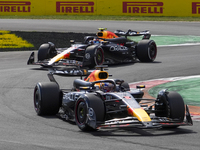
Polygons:
[[[143,36],[139,42],[129,40],[128,36]],[[116,30],[114,33],[99,28],[97,36],[86,36],[83,42],[71,41],[69,48],[56,48],[51,42],[42,44],[38,50],[38,61],[34,52],[27,64],[42,66],[73,65],[94,68],[102,64],[134,62],[153,62],[157,55],[155,41],[149,40],[149,31],[127,32]]]

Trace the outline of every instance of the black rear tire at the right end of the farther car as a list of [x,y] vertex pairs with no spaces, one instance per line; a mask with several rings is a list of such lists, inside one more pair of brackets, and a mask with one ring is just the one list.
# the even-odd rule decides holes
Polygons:
[[153,40],[138,42],[136,56],[141,62],[153,62],[156,59],[157,46]]

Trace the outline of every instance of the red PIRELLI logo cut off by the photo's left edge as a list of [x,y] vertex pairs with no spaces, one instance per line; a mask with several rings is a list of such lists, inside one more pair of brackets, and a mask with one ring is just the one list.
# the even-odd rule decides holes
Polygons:
[[31,12],[31,2],[29,1],[0,1],[1,12]]

